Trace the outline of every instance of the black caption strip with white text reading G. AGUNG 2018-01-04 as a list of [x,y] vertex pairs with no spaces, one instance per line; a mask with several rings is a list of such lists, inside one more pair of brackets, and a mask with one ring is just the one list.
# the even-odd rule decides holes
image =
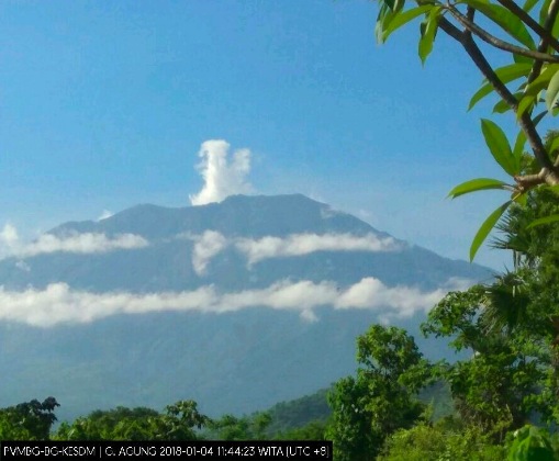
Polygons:
[[332,441],[2,441],[0,459],[332,460]]

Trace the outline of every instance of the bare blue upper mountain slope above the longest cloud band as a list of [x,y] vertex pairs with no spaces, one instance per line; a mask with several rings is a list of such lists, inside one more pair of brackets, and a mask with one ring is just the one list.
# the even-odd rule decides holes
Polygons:
[[304,258],[265,259],[253,268],[247,267],[238,251],[227,248],[222,258],[215,259],[209,279],[197,273],[191,263],[193,237],[208,229],[227,238],[251,239],[304,233],[390,237],[351,215],[335,212],[303,195],[236,195],[220,204],[183,209],[138,205],[100,222],[66,223],[48,234],[59,238],[76,233],[109,237],[133,234],[149,241],[148,246],[104,254],[40,254],[25,257],[24,269],[19,265],[21,258],[8,258],[0,261],[0,283],[19,290],[30,284],[43,288],[66,282],[76,289],[97,292],[150,292],[188,290],[209,281],[227,290],[241,290],[267,286],[287,278],[314,282],[335,280],[347,284],[372,276],[389,285],[415,284],[434,289],[449,277],[479,280],[489,274],[479,266],[441,258],[399,241],[401,251],[315,251]]

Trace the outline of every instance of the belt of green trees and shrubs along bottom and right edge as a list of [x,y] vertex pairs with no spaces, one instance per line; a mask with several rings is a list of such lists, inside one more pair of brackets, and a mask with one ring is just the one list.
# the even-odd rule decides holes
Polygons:
[[[558,459],[559,228],[524,225],[557,210],[552,194],[532,192],[500,224],[494,245],[515,252],[514,270],[447,294],[422,325],[469,359],[429,362],[405,330],[372,325],[357,338],[355,375],[297,404],[217,419],[192,401],[164,412],[118,407],[52,430],[58,403],[49,397],[0,409],[0,439],[326,439],[336,461]],[[445,390],[446,415],[425,401]]]

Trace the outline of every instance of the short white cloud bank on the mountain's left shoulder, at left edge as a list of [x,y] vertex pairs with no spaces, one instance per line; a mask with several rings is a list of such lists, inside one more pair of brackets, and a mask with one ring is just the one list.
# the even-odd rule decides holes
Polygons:
[[76,254],[109,252],[119,249],[135,249],[146,247],[148,241],[135,234],[119,234],[114,237],[107,237],[104,234],[69,234],[57,237],[53,234],[43,234],[30,244],[22,244],[18,231],[7,224],[0,232],[0,244],[2,256],[15,256],[26,258],[56,251]]

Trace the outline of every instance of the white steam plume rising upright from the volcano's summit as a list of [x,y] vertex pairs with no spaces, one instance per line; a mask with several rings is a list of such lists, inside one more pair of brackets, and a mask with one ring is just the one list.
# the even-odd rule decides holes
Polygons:
[[250,150],[238,149],[227,159],[230,144],[223,139],[210,139],[202,143],[197,166],[204,180],[202,190],[190,195],[192,205],[205,205],[221,202],[228,195],[250,193],[253,187],[246,177],[250,172]]

